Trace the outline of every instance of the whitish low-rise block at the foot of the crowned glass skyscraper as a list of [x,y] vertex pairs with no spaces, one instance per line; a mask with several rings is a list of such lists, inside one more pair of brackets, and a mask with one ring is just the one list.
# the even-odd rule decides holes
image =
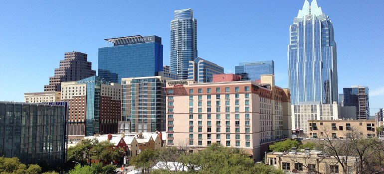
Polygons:
[[356,116],[356,107],[342,107],[337,102],[333,104],[295,104],[291,107],[292,128],[304,129],[304,133],[308,133],[308,120],[336,120]]

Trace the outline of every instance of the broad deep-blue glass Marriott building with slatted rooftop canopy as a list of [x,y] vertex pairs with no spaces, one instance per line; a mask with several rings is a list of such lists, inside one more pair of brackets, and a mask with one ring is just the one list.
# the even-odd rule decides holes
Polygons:
[[163,71],[163,45],[158,36],[105,39],[113,46],[99,48],[98,76],[121,84],[121,78],[157,76]]

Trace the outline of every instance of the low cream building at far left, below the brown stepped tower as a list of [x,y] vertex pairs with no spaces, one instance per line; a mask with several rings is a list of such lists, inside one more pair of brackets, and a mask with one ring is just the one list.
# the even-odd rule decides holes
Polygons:
[[61,101],[60,91],[27,92],[24,93],[25,103],[45,103]]

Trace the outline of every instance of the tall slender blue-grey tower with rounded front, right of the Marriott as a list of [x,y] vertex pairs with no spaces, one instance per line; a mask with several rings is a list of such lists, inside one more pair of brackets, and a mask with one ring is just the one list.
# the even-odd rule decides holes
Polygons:
[[188,79],[189,61],[197,57],[197,20],[191,8],[175,10],[171,21],[171,73]]

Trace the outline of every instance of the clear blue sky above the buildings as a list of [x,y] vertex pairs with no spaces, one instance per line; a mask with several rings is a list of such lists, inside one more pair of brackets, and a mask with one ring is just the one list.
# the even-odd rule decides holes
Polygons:
[[[310,0],[311,1],[311,0]],[[233,73],[246,61],[275,61],[276,84],[288,87],[289,25],[304,0],[2,0],[0,1],[0,100],[23,101],[43,91],[64,52],[88,54],[97,71],[106,38],[157,35],[169,65],[170,21],[192,8],[198,56]],[[371,108],[384,107],[384,0],[318,0],[334,24],[339,92],[370,87]],[[377,110],[371,110],[371,115]]]

